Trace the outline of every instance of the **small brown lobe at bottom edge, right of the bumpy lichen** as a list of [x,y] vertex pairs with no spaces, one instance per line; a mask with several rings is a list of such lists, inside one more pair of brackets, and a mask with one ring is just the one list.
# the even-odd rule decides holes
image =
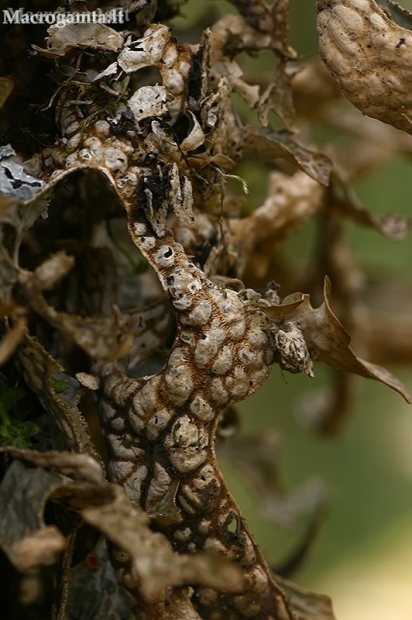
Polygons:
[[332,601],[276,575],[276,581],[289,597],[296,620],[336,620]]

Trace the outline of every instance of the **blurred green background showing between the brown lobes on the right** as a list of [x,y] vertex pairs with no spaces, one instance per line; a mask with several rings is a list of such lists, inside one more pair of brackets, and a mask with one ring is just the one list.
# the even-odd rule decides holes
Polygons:
[[[187,5],[189,16],[202,10],[193,2]],[[402,5],[412,10],[412,0]],[[315,22],[314,0],[291,0],[291,43],[300,54],[316,54]],[[393,158],[355,189],[377,215],[412,216],[411,162],[406,158]],[[395,274],[412,288],[410,235],[394,243],[350,223],[346,228],[358,265],[371,273]],[[311,233],[310,227],[298,233],[289,249],[308,247]],[[410,369],[390,370],[412,393]],[[309,380],[282,375],[275,367],[265,387],[239,407],[245,432],[274,427],[280,433],[286,486],[321,478],[329,489],[323,527],[294,580],[332,596],[339,620],[412,620],[412,407],[385,386],[359,379],[341,436],[316,438],[296,416],[299,401],[327,384],[324,368],[317,365],[315,373]],[[269,561],[283,559],[294,548],[296,534],[262,519],[253,489],[227,467],[225,474]]]

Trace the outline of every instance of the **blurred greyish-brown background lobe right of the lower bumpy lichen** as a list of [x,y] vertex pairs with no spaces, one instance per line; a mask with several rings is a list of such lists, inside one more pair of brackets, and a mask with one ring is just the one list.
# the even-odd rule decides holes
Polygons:
[[319,481],[308,482],[296,491],[285,491],[276,467],[279,438],[273,431],[219,443],[218,456],[249,480],[262,514],[283,527],[300,529],[325,501],[325,487]]

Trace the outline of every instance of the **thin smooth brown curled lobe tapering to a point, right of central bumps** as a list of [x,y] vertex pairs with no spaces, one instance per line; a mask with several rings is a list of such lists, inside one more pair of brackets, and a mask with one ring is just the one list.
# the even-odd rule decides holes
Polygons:
[[309,296],[305,295],[303,304],[288,319],[291,322],[298,322],[314,359],[333,368],[381,381],[399,392],[406,402],[411,403],[408,392],[396,377],[385,368],[362,360],[352,351],[349,346],[351,337],[330,308],[329,292],[330,282],[325,278],[324,303],[319,308],[313,309]]

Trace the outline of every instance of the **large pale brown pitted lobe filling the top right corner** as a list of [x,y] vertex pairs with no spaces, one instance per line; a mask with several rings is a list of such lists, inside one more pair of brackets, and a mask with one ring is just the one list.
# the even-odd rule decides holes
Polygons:
[[317,9],[320,54],[343,94],[412,133],[412,16],[391,0],[318,0]]

